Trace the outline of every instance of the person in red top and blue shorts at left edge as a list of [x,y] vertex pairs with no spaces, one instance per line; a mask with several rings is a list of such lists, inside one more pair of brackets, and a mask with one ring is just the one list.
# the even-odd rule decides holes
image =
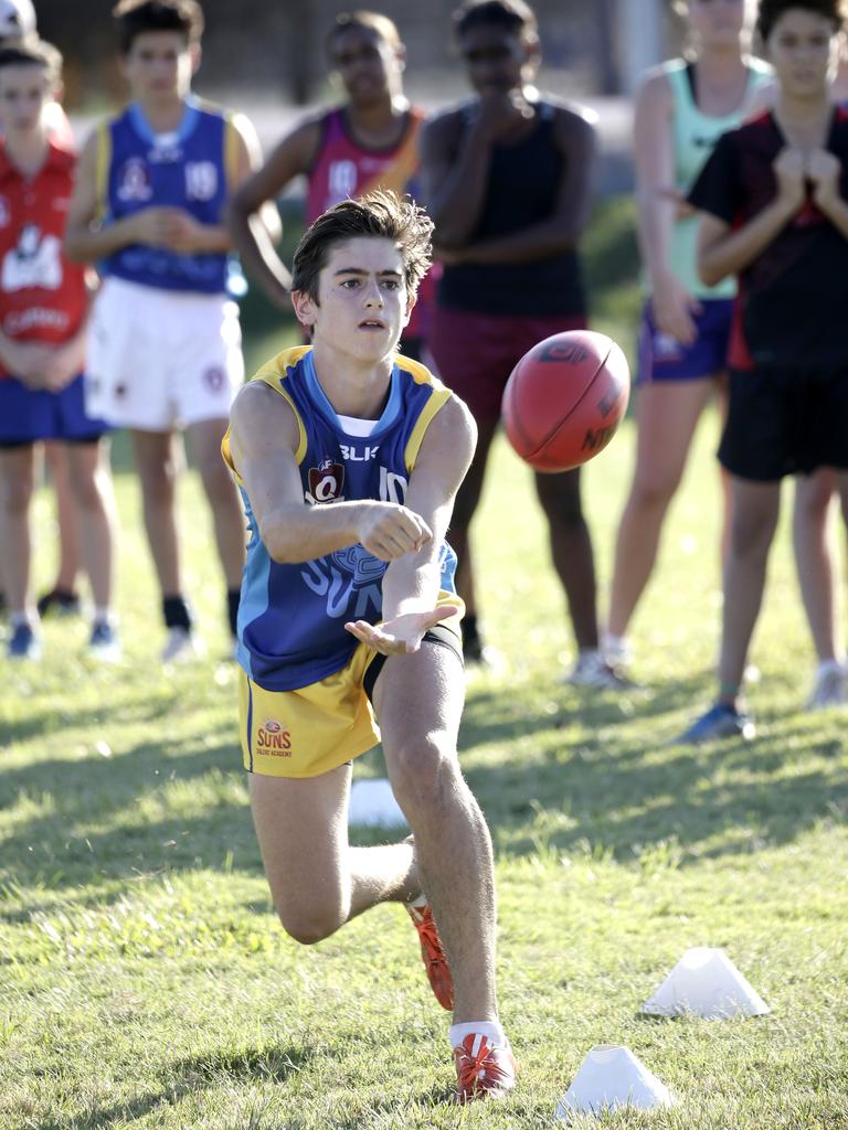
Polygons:
[[7,585],[10,659],[38,659],[32,607],[29,510],[34,445],[61,441],[80,546],[94,598],[90,651],[115,659],[112,617],[114,502],[103,420],[85,410],[88,295],[85,269],[62,253],[73,186],[73,154],[59,144],[44,108],[59,93],[61,56],[27,38],[0,49],[0,560]]

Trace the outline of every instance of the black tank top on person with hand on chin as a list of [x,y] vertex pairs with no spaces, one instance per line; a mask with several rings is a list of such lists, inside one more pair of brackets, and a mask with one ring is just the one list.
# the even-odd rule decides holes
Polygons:
[[[554,136],[554,107],[540,103],[530,133],[492,147],[486,194],[469,242],[509,235],[548,219],[556,209],[564,163]],[[439,304],[487,314],[585,314],[577,252],[561,251],[526,263],[445,266]]]

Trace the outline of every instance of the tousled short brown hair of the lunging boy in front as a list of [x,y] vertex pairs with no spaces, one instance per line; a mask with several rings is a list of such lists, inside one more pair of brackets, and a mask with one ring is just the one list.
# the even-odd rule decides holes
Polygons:
[[292,289],[318,302],[318,276],[330,250],[360,236],[393,240],[404,260],[406,288],[415,295],[430,267],[433,221],[414,200],[382,190],[343,200],[318,217],[294,253]]

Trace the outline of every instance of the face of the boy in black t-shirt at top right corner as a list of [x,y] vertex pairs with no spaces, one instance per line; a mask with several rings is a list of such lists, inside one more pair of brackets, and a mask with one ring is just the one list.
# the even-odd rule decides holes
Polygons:
[[785,94],[819,97],[836,72],[840,36],[825,16],[788,8],[771,29],[765,49]]

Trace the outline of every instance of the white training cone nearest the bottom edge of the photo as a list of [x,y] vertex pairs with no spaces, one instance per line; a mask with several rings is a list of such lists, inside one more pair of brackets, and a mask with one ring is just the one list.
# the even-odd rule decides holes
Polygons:
[[672,1106],[668,1087],[640,1063],[629,1048],[598,1044],[556,1106],[557,1119],[572,1114],[602,1114],[618,1106],[650,1111]]

